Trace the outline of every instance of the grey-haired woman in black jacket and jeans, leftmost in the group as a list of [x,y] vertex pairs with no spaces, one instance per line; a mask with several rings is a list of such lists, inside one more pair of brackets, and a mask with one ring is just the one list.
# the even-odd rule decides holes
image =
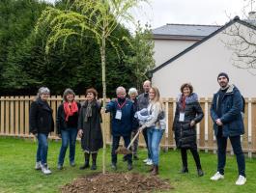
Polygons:
[[43,174],[51,174],[47,166],[48,134],[54,131],[52,109],[47,103],[50,91],[46,87],[39,89],[36,101],[31,103],[29,112],[29,130],[38,138],[38,152],[36,170],[42,170]]

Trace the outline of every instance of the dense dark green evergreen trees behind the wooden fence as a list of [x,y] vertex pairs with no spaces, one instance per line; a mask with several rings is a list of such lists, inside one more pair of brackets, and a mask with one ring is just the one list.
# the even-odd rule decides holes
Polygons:
[[[92,33],[85,31],[84,37],[70,37],[65,49],[59,41],[46,54],[48,25],[41,26],[37,36],[34,31],[35,23],[46,6],[53,7],[38,0],[0,2],[1,95],[35,95],[39,87],[47,86],[52,95],[62,95],[67,87],[77,95],[84,95],[85,88],[95,87],[101,97],[100,49],[96,39],[88,38]],[[22,7],[22,12],[16,12],[19,7]],[[55,7],[65,10],[67,1],[58,1]],[[113,36],[119,40],[123,37],[132,39],[122,25],[113,31]],[[118,44],[123,47],[125,55],[131,53],[127,41],[119,41]],[[112,97],[119,84],[127,88],[134,86],[135,76],[133,69],[125,65],[123,56],[118,58],[109,42],[106,46],[107,95]]]

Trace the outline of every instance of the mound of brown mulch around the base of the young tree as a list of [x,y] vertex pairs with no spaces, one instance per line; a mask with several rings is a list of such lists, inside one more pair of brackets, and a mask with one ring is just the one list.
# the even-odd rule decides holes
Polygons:
[[63,193],[138,193],[173,189],[168,179],[138,173],[92,174],[73,179],[62,187]]

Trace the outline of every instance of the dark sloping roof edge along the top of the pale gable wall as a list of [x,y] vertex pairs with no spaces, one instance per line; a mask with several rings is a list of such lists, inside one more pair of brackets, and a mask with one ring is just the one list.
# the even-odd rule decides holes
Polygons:
[[170,60],[164,62],[163,64],[161,64],[160,66],[156,67],[156,69],[152,69],[151,72],[155,73],[157,70],[162,69],[163,67],[169,65],[170,63],[172,63],[173,61],[177,60],[178,58],[182,57],[183,55],[185,55],[185,53],[187,53],[188,51],[192,50],[193,48],[197,47],[198,45],[200,45],[201,43],[208,41],[209,39],[211,39],[213,36],[215,36],[216,34],[222,32],[223,30],[225,30],[227,27],[231,26],[234,23],[241,23],[242,25],[245,25],[249,28],[252,28],[254,30],[256,30],[256,26],[253,25],[251,22],[246,22],[244,20],[241,20],[239,16],[235,16],[234,19],[230,20],[228,23],[226,23],[225,25],[223,25],[222,27],[218,28],[216,31],[214,31],[212,34],[210,34],[209,36],[205,37],[204,39],[202,39],[201,41],[197,41],[194,44],[192,44],[191,46],[187,47],[184,51],[182,51],[181,53],[177,54],[176,56],[172,57]]

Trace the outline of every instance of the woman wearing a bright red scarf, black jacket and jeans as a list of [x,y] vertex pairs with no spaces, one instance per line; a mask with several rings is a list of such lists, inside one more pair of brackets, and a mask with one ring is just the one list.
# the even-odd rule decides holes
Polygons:
[[62,146],[58,159],[58,169],[63,169],[65,154],[70,144],[70,165],[74,167],[75,142],[77,136],[77,123],[80,103],[74,100],[74,93],[66,89],[63,94],[63,103],[58,107],[57,133],[62,138]]

